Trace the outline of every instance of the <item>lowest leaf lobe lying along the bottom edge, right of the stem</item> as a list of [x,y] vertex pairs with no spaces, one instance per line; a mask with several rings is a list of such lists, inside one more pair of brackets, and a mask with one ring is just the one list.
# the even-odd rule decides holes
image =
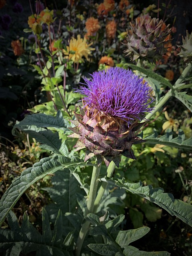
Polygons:
[[168,252],[144,252],[133,246],[124,246],[125,256],[170,256]]

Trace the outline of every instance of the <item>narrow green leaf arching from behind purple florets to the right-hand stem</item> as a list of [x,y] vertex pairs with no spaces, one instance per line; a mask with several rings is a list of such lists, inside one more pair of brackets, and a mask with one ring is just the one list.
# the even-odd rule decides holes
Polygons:
[[150,78],[153,78],[154,80],[160,82],[162,85],[165,85],[165,86],[168,86],[169,88],[173,89],[173,86],[170,82],[168,82],[164,77],[156,74],[155,72],[151,71],[151,70],[148,70],[146,68],[141,68],[141,67],[138,67],[134,64],[130,64],[130,63],[127,63],[127,65],[130,67],[130,68],[133,68],[135,70],[138,70],[139,72],[145,74],[146,76],[150,77]]

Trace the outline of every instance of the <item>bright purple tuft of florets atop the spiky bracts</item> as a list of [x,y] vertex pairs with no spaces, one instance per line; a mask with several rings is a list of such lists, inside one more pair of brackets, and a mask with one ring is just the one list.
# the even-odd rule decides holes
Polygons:
[[84,94],[84,106],[106,115],[131,120],[144,118],[144,112],[150,112],[153,101],[151,88],[143,78],[131,70],[113,67],[94,72],[91,80],[84,78],[88,88],[80,86],[77,92]]

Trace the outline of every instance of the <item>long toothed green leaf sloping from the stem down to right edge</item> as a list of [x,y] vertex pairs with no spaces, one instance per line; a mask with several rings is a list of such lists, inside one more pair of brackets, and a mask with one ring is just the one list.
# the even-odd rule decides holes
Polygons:
[[146,198],[150,202],[164,208],[172,216],[174,215],[192,226],[192,205],[179,199],[174,199],[172,194],[164,193],[162,188],[153,188],[151,185],[142,186],[142,182],[128,183],[124,182],[124,180],[106,180],[105,178],[102,178],[102,180],[108,181],[116,186],[120,186],[120,188],[124,188],[125,190],[132,192],[133,194],[138,194],[139,196]]

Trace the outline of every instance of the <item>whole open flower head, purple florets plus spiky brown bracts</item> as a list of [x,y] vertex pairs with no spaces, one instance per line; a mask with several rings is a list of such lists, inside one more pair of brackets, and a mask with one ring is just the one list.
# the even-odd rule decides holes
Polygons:
[[87,87],[77,92],[84,94],[83,108],[75,113],[76,127],[71,128],[79,138],[76,148],[86,147],[86,158],[96,155],[106,166],[113,160],[118,166],[120,155],[135,159],[132,144],[143,142],[134,136],[142,124],[145,112],[150,112],[151,88],[131,70],[108,68],[84,78]]

